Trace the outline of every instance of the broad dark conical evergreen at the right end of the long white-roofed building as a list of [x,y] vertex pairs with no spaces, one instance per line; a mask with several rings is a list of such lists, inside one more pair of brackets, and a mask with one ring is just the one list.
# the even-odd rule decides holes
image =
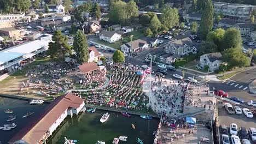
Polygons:
[[71,47],[67,44],[68,38],[66,35],[62,35],[61,31],[56,30],[53,34],[53,41],[49,43],[48,55],[51,58],[65,56],[66,53],[71,52]]

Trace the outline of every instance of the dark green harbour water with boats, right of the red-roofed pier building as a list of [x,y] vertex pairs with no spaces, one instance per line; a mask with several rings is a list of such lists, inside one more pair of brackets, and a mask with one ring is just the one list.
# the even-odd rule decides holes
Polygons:
[[[95,144],[97,140],[112,143],[114,137],[128,136],[127,141],[122,143],[137,143],[137,138],[144,140],[145,144],[154,141],[153,131],[158,127],[159,119],[142,119],[132,115],[127,118],[121,113],[110,112],[109,119],[101,124],[100,118],[106,111],[96,110],[95,113],[82,113],[73,118],[67,118],[62,126],[57,130],[49,143],[63,143],[64,136],[68,139],[78,140],[78,144]],[[135,124],[136,129],[132,129],[131,124]]]

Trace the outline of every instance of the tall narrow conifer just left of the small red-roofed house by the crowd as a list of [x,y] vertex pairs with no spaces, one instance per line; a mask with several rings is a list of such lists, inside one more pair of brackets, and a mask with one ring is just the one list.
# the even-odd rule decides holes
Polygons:
[[75,52],[77,53],[78,63],[83,64],[88,62],[89,50],[88,50],[87,39],[83,31],[81,31],[80,29],[77,31],[77,34],[75,34],[73,46],[74,46]]

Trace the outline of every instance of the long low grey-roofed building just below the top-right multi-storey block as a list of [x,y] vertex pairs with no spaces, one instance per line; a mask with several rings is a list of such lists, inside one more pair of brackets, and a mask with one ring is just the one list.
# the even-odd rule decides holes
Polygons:
[[234,27],[240,31],[241,36],[249,35],[249,33],[253,31],[253,25],[251,23],[229,19],[220,20],[218,23],[218,27],[225,30],[230,27]]

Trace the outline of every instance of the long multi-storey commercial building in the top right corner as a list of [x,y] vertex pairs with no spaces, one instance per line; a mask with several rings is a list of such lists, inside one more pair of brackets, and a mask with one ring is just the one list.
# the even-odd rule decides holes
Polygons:
[[223,12],[225,17],[234,20],[248,20],[252,10],[256,10],[256,5],[213,2],[214,12]]

